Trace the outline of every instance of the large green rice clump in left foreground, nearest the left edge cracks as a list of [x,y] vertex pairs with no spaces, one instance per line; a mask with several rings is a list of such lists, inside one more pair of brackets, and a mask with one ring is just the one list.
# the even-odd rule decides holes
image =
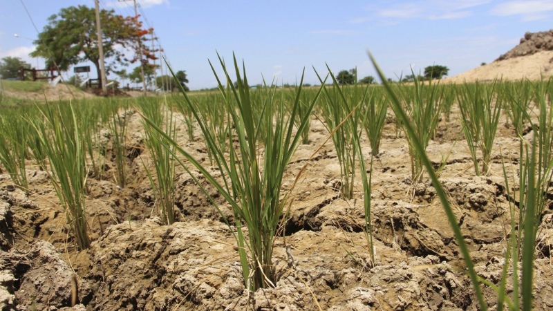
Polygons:
[[[48,158],[40,164],[48,173],[79,249],[90,247],[86,224],[86,146],[73,104],[39,107],[44,120],[30,120],[35,149]],[[35,155],[35,158],[41,156]]]

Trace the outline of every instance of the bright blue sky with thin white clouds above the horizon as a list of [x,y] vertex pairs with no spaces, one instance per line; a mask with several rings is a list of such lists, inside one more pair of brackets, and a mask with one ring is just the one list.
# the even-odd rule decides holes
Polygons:
[[[100,6],[129,16],[132,2],[101,0]],[[553,20],[553,1],[546,0],[137,2],[144,25],[155,28],[171,66],[186,70],[191,89],[216,86],[207,61],[217,64],[217,52],[227,63],[233,52],[243,59],[250,84],[262,75],[294,84],[303,68],[304,82],[317,84],[313,67],[326,73],[326,64],[333,73],[357,67],[359,78],[375,76],[367,50],[388,77],[433,64],[449,67],[451,76],[493,62],[526,31],[550,30]],[[2,0],[0,57],[33,66],[37,59],[28,53],[37,31],[22,3],[39,31],[61,8],[94,6],[92,0]]]

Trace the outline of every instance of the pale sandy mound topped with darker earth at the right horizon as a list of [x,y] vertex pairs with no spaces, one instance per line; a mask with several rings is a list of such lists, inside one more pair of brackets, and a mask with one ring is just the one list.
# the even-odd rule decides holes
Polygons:
[[526,32],[521,44],[500,55],[491,64],[448,77],[444,82],[490,82],[494,79],[545,79],[553,75],[553,30]]

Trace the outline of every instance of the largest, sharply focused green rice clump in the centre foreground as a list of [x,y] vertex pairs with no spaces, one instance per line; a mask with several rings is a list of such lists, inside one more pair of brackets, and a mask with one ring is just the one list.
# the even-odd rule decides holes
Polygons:
[[[294,118],[297,115],[299,105],[301,82],[297,89],[292,113],[288,114],[285,113],[284,103],[273,101],[274,97],[270,97],[271,100],[263,102],[253,102],[250,87],[247,84],[245,65],[243,65],[241,72],[236,57],[234,57],[236,86],[230,83],[227,84],[232,79],[221,57],[219,57],[219,62],[225,75],[223,82],[219,79],[211,62],[210,64],[218,81],[223,103],[227,105],[227,111],[229,111],[229,122],[232,122],[232,126],[227,127],[228,139],[231,140],[234,136],[238,140],[236,149],[229,148],[228,158],[225,158],[225,154],[216,144],[216,139],[209,133],[207,124],[198,115],[196,104],[191,102],[191,99],[182,89],[184,101],[178,102],[177,107],[182,113],[189,110],[194,114],[209,148],[212,149],[216,166],[221,172],[222,182],[214,178],[212,173],[184,149],[178,147],[178,144],[171,139],[170,135],[155,126],[150,120],[145,119],[145,121],[153,130],[165,138],[163,141],[166,142],[166,148],[173,146],[175,152],[184,156],[188,162],[193,164],[232,207],[235,219],[234,227],[228,223],[209,193],[196,180],[196,183],[212,200],[221,216],[225,218],[229,228],[232,229],[238,246],[245,286],[248,290],[255,291],[258,288],[274,286],[273,238],[279,224],[281,224],[281,216],[285,206],[285,202],[280,200],[283,174],[300,139],[299,135],[294,136],[292,134],[294,132]],[[301,81],[303,82],[303,75]],[[226,88],[229,88],[229,92],[225,91],[225,85]],[[272,88],[273,92],[274,89]],[[236,109],[231,109],[231,98],[228,95],[236,101]],[[317,97],[318,95],[310,103],[310,110],[315,106]],[[253,109],[255,105],[263,106],[264,112],[260,115],[263,120],[254,117]],[[301,132],[307,122],[307,120],[303,120],[301,125],[297,127],[297,131]],[[259,127],[262,124],[270,124],[269,129],[260,129]],[[265,131],[266,135],[260,143],[261,131]],[[179,159],[178,161],[184,169],[187,169],[184,162]],[[191,176],[194,178],[192,174]]]

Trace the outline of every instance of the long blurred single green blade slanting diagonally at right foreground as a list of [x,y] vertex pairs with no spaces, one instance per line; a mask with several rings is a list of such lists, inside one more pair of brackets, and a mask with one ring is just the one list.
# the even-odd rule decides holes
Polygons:
[[420,140],[418,137],[418,133],[415,131],[415,126],[413,126],[410,118],[408,117],[406,111],[404,111],[404,108],[399,100],[399,98],[395,95],[395,92],[391,85],[387,82],[386,77],[384,76],[384,73],[382,73],[382,70],[380,70],[379,66],[377,65],[373,55],[369,53],[369,57],[371,58],[371,62],[373,63],[373,66],[375,66],[375,70],[377,70],[377,73],[382,80],[382,83],[384,84],[384,88],[386,89],[386,92],[388,93],[388,98],[390,99],[390,104],[393,107],[394,112],[396,113],[396,117],[401,120],[403,123],[404,131],[406,135],[408,135],[409,139],[411,140],[411,144],[413,145],[413,149],[419,153],[420,156],[420,162],[422,163],[422,166],[427,170],[427,173],[429,174],[429,177],[432,181],[432,185],[436,190],[436,194],[438,198],[440,198],[440,202],[442,203],[442,207],[444,208],[445,214],[447,215],[447,219],[449,220],[449,225],[451,226],[451,229],[453,230],[453,234],[455,236],[455,239],[459,245],[460,252],[462,254],[462,257],[465,261],[465,265],[467,266],[467,274],[469,274],[472,285],[474,287],[474,292],[476,294],[476,297],[478,299],[478,305],[480,306],[480,310],[487,310],[487,304],[484,299],[484,295],[482,294],[482,290],[480,288],[480,279],[478,278],[478,275],[476,274],[476,271],[474,270],[474,264],[472,263],[471,256],[469,253],[469,249],[467,247],[467,243],[465,243],[465,239],[463,238],[461,229],[458,225],[458,220],[456,219],[455,214],[453,214],[453,208],[449,204],[449,200],[447,198],[447,194],[442,187],[442,184],[440,183],[440,180],[438,180],[438,176],[436,175],[432,164],[427,156],[427,153],[424,149],[424,142]]

